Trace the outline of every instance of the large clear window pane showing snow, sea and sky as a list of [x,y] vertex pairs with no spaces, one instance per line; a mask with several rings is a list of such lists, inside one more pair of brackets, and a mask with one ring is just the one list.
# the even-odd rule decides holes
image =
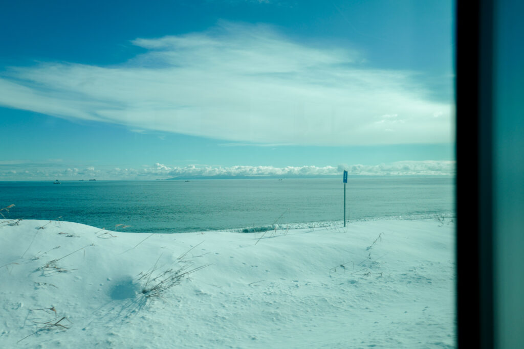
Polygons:
[[455,346],[453,8],[0,5],[2,341]]

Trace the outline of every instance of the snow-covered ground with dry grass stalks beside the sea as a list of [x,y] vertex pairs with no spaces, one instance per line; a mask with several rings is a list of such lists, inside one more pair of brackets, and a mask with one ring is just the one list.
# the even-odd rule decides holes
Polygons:
[[454,229],[441,218],[139,234],[0,220],[0,346],[455,347]]

